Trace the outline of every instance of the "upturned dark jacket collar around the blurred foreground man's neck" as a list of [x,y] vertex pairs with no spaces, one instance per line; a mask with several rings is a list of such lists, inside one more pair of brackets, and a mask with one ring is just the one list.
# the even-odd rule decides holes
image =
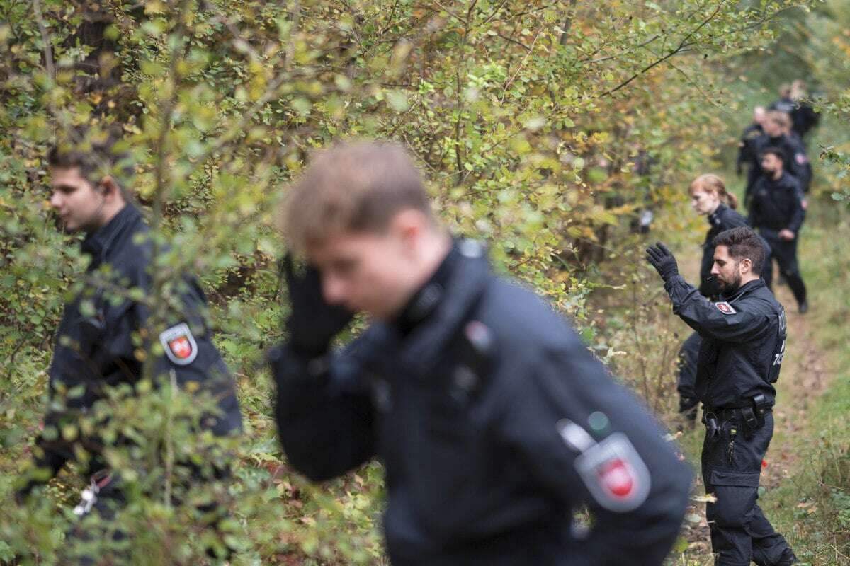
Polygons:
[[[418,322],[408,328],[406,334],[398,322],[376,323],[370,329],[372,336],[398,348],[399,361],[405,368],[427,376],[445,353],[464,317],[484,293],[489,279],[490,266],[484,245],[472,240],[457,240],[432,280],[414,295],[402,315],[410,316],[417,311]],[[417,306],[420,302],[427,303],[427,308]],[[409,322],[410,319],[404,323]]]

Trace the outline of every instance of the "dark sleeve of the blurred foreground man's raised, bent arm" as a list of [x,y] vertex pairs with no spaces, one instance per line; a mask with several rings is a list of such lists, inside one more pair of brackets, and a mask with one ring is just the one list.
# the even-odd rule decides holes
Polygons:
[[313,481],[357,468],[377,451],[371,396],[360,385],[360,365],[351,353],[357,347],[355,341],[309,362],[286,345],[269,356],[280,444],[292,466]]

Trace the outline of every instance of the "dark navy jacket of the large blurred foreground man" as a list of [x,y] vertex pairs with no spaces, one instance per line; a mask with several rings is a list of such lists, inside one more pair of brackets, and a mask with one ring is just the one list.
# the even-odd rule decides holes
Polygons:
[[[691,477],[663,431],[562,317],[490,272],[481,246],[458,244],[439,271],[416,326],[376,322],[326,371],[286,347],[273,356],[289,462],[320,481],[379,456],[396,565],[660,564]],[[580,456],[606,443],[631,444],[632,469],[647,471],[626,480],[645,488],[626,507],[598,490],[605,458]],[[579,540],[582,504],[597,520]]]

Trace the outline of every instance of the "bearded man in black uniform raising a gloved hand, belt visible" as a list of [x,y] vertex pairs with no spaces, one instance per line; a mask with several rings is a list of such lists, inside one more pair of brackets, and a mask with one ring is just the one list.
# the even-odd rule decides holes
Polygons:
[[714,275],[721,288],[713,302],[686,283],[664,244],[647,260],[664,280],[673,312],[702,337],[696,395],[703,403],[706,439],[702,476],[715,566],[787,566],[791,546],[757,505],[762,459],[774,433],[774,383],[785,356],[785,309],[759,277],[761,238],[736,227],[714,238]]

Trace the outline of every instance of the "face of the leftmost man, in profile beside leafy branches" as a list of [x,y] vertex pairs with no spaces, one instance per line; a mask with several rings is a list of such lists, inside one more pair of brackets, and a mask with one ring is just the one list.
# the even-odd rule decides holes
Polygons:
[[91,230],[99,225],[105,197],[82,176],[79,167],[51,167],[50,186],[50,206],[66,232]]

